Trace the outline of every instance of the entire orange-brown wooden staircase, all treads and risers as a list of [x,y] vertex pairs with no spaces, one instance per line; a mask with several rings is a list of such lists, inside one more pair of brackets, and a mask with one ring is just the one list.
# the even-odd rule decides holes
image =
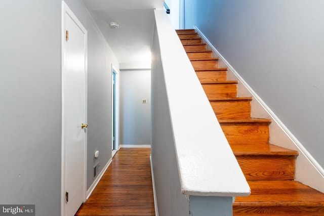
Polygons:
[[269,143],[271,120],[251,117],[252,97],[236,97],[238,81],[227,80],[194,29],[177,34],[251,188],[233,215],[324,215],[324,194],[295,181],[298,152]]

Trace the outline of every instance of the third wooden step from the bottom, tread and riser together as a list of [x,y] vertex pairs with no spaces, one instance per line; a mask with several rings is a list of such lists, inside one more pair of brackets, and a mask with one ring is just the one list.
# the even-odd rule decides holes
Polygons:
[[268,144],[270,119],[243,118],[218,120],[229,144]]

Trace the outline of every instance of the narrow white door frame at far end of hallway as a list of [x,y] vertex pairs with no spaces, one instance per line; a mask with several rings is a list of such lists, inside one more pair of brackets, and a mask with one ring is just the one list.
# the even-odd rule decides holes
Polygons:
[[[115,79],[115,107],[114,106],[114,102],[113,102],[113,72],[115,72],[116,74],[116,79]],[[113,145],[113,109],[115,108],[115,147],[116,150],[118,151],[119,149],[119,71],[114,67],[113,64],[111,64],[111,145]],[[112,146],[113,149],[113,146]],[[116,153],[116,151],[112,150],[112,157],[114,156],[114,154]]]

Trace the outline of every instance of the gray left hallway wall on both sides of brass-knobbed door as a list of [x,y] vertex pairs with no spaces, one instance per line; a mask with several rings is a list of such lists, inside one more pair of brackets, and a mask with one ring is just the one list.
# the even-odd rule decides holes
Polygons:
[[[119,66],[87,9],[67,5],[88,30],[88,188],[95,150],[111,158],[111,63]],[[61,1],[0,2],[0,204],[35,204],[60,215]]]

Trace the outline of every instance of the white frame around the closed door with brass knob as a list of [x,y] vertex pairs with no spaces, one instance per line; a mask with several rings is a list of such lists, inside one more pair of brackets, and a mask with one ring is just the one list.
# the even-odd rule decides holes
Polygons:
[[[85,122],[88,122],[87,119],[87,86],[88,86],[88,34],[86,28],[82,25],[82,23],[79,22],[77,17],[73,14],[73,12],[70,10],[70,8],[66,5],[64,1],[62,1],[62,13],[61,13],[61,83],[63,83],[64,80],[64,41],[66,36],[66,30],[64,29],[64,16],[67,14],[77,25],[80,29],[82,29],[83,32],[85,32]],[[65,208],[65,145],[64,145],[64,92],[63,92],[63,85],[61,89],[61,97],[62,97],[62,141],[61,141],[61,215],[65,215],[66,208]],[[84,202],[87,200],[87,133],[85,134],[85,154],[84,154]]]

